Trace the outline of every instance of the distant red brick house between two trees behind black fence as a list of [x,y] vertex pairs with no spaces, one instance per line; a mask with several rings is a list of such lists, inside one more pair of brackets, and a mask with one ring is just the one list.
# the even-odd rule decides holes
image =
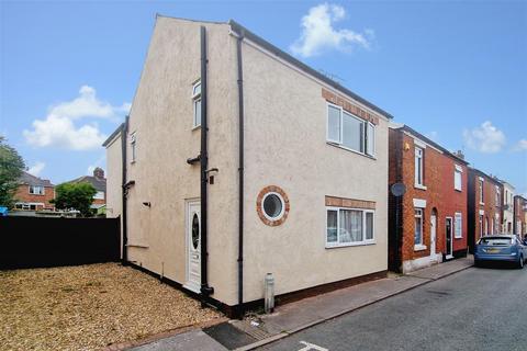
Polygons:
[[16,210],[55,210],[55,205],[49,203],[55,199],[55,185],[49,180],[22,172],[19,181],[20,185],[14,194]]

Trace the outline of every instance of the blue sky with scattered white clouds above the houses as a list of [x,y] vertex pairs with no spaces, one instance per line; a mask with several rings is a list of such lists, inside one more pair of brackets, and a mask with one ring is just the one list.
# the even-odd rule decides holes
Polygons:
[[527,1],[0,0],[0,134],[30,172],[105,168],[156,13],[234,19],[527,195]]

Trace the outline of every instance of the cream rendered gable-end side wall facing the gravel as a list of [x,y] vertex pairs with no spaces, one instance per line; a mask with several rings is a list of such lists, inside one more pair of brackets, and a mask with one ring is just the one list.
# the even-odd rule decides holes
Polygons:
[[209,42],[209,166],[220,169],[209,186],[209,282],[215,290],[212,297],[233,305],[237,91],[236,47],[226,24],[157,18],[130,115],[137,160],[128,162],[127,172],[135,181],[127,204],[128,258],[186,283],[186,200],[200,196],[200,166],[187,163],[200,154],[201,129],[192,129],[191,99],[192,84],[200,78],[200,25],[206,26]]

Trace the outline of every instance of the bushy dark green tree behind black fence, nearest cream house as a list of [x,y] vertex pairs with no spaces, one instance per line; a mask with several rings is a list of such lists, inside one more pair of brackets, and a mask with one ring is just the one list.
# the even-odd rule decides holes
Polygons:
[[55,188],[55,199],[51,202],[58,210],[77,210],[82,217],[91,217],[90,208],[97,190],[90,183],[61,183]]

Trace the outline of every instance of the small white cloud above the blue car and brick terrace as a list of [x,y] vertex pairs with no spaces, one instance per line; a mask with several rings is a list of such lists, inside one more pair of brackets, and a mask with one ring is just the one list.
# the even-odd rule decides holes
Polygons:
[[485,121],[471,131],[464,129],[463,138],[468,147],[484,154],[498,152],[506,143],[505,134],[493,126],[491,121]]

